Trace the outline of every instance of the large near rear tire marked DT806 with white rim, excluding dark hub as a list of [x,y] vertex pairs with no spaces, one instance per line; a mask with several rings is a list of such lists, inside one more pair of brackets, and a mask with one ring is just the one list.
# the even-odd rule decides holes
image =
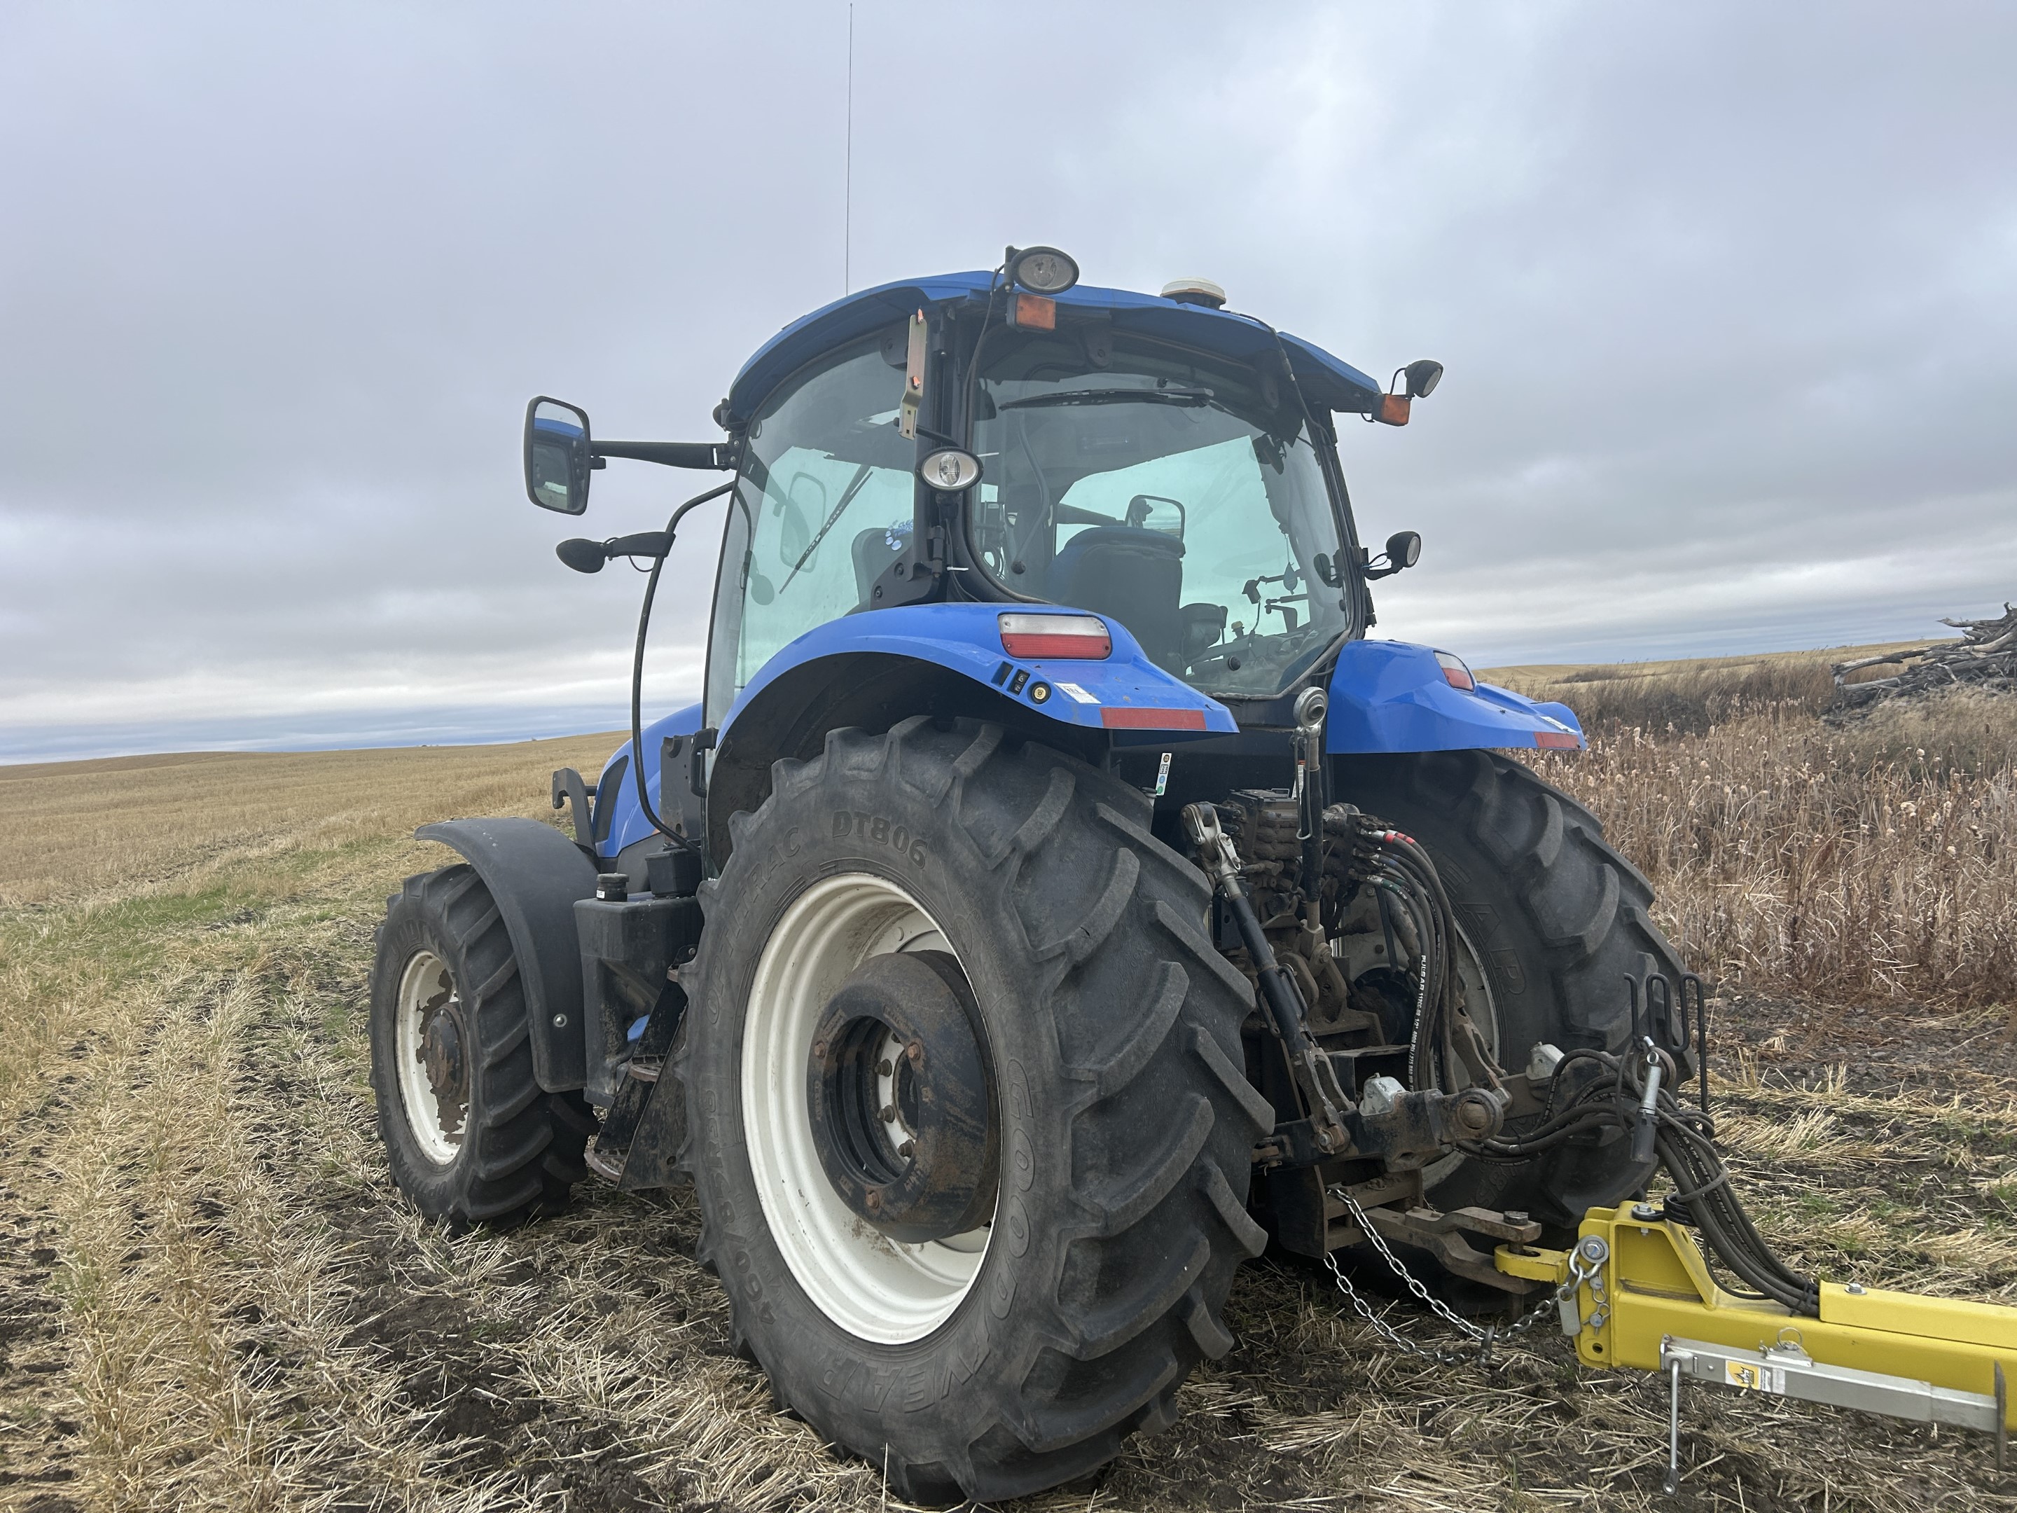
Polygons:
[[[702,888],[682,1051],[702,1257],[779,1396],[900,1495],[1093,1471],[1232,1346],[1220,1307],[1265,1243],[1253,995],[1212,950],[1202,876],[1148,819],[1134,789],[1000,726],[912,718],[779,763]],[[920,1245],[849,1225],[793,1154],[819,995],[904,948],[964,974],[998,1148],[992,1218]]]

